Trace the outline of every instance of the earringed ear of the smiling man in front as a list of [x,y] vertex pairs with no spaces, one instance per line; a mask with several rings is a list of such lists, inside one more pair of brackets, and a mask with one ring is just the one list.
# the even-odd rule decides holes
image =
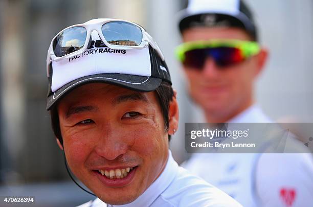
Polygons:
[[174,96],[172,101],[169,103],[168,109],[168,120],[169,120],[169,127],[168,127],[168,134],[173,135],[177,131],[178,128],[178,103],[176,100],[177,91],[174,89]]

